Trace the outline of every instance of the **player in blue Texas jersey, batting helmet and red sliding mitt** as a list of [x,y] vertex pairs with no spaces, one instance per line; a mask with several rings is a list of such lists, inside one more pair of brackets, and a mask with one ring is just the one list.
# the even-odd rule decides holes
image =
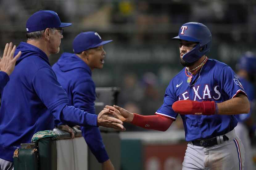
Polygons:
[[155,115],[142,116],[118,106],[106,108],[118,109],[123,121],[161,131],[180,114],[188,141],[183,170],[243,169],[245,152],[234,131],[234,115],[248,113],[250,103],[239,78],[228,65],[205,55],[212,35],[204,24],[185,23],[173,39],[180,41],[184,69],[170,81]]

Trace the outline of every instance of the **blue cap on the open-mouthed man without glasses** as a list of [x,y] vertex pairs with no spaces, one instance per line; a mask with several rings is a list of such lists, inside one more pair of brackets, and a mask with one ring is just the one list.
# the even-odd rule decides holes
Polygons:
[[74,53],[81,53],[87,49],[95,48],[112,41],[113,40],[102,41],[100,35],[93,31],[83,32],[78,34],[74,39],[73,51]]

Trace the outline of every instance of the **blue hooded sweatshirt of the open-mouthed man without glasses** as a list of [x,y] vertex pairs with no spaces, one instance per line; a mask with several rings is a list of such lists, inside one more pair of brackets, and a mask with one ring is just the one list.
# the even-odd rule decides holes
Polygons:
[[[66,90],[69,105],[95,114],[95,84],[92,80],[92,72],[89,66],[76,54],[63,53],[60,59],[52,66],[60,85]],[[56,120],[56,124],[60,121]],[[72,126],[72,125],[71,125]],[[85,138],[90,150],[102,163],[109,159],[102,142],[98,127],[81,127],[82,135]]]

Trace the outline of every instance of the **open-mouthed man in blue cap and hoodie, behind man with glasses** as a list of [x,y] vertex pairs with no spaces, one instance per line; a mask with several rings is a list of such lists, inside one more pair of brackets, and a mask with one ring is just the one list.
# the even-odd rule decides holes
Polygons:
[[[69,105],[95,114],[96,92],[92,71],[103,68],[106,54],[103,45],[109,42],[112,40],[102,41],[100,35],[93,31],[80,33],[73,41],[74,53],[63,53],[57,63],[52,66],[57,80],[67,92]],[[58,120],[55,123],[62,124]],[[99,128],[84,126],[81,130],[90,150],[98,162],[102,163],[102,170],[114,170]]]

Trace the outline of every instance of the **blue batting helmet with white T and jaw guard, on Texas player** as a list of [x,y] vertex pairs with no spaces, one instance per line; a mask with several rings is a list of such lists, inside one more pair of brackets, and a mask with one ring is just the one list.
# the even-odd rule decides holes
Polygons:
[[188,22],[180,27],[179,35],[172,39],[198,42],[198,44],[188,53],[182,56],[184,61],[192,63],[204,56],[211,47],[212,34],[204,24],[198,22]]

